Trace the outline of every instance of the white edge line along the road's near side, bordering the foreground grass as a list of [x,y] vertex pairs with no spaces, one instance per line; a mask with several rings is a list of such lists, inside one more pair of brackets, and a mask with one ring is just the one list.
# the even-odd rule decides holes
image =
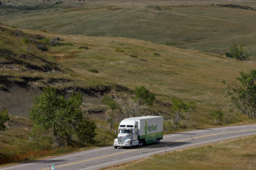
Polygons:
[[[168,150],[174,150],[175,148],[188,147],[188,146],[198,145],[198,144],[201,144],[201,143],[207,143],[207,142],[217,141],[217,140],[221,140],[221,139],[228,139],[228,138],[234,138],[234,137],[241,137],[241,136],[253,135],[253,134],[256,134],[256,133],[250,133],[250,134],[236,135],[236,136],[233,136],[233,137],[226,137],[226,138],[214,139],[214,140],[211,140],[211,141],[205,141],[205,142],[194,143],[194,144],[186,145],[186,146],[174,147],[174,148],[170,148],[170,149],[168,149]],[[168,151],[168,150],[167,150],[167,151]],[[138,158],[138,157],[141,157],[141,156],[152,155],[152,154],[156,154],[156,153],[164,152],[164,151],[166,151],[166,150],[162,150],[162,151],[158,151],[158,152],[152,152],[152,153],[150,153],[150,154],[135,156],[135,157],[133,157],[133,158],[127,158],[127,159],[123,159],[123,160],[134,159],[134,158]],[[96,165],[96,166],[94,166],[94,167],[88,167],[88,168],[84,168],[84,169],[95,168],[95,167],[99,167],[99,166],[102,166],[102,165],[113,164],[113,163],[121,162],[121,161],[123,161],[123,160],[118,160],[118,161],[115,161],[115,162],[110,162],[110,163],[101,164],[101,165]],[[84,170],[84,169],[79,169],[79,170]]]

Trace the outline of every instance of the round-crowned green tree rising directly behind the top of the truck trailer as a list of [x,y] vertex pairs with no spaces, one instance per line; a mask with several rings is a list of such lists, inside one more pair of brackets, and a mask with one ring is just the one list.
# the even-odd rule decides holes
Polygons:
[[143,105],[153,105],[155,95],[151,94],[145,86],[141,86],[140,88],[136,87],[133,100],[137,104],[137,116],[139,116]]

